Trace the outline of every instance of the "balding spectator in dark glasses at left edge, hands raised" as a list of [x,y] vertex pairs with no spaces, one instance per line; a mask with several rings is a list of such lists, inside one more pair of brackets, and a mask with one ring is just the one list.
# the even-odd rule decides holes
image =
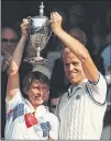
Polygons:
[[11,58],[14,48],[19,40],[19,34],[12,26],[3,26],[1,28],[1,70],[5,71],[9,67],[9,59]]

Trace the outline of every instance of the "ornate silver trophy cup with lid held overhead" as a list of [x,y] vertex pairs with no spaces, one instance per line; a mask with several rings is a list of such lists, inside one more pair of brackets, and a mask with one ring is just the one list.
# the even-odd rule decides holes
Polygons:
[[52,35],[52,28],[48,17],[44,16],[43,2],[41,2],[40,5],[40,15],[33,17],[29,16],[27,21],[30,22],[29,40],[36,51],[36,57],[26,59],[26,61],[30,63],[44,64],[47,60],[41,57],[41,51],[46,47]]

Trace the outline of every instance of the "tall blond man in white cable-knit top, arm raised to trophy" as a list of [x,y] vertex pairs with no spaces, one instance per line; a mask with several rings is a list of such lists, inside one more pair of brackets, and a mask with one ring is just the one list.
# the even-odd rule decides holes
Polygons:
[[59,98],[59,139],[98,140],[107,108],[107,83],[96,68],[87,48],[62,28],[62,16],[51,14],[52,30],[65,44],[64,70],[71,85]]

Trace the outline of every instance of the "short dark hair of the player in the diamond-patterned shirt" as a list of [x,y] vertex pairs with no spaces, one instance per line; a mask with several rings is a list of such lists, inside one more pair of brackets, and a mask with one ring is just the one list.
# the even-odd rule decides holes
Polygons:
[[41,83],[47,84],[49,86],[49,79],[45,74],[38,71],[29,72],[23,80],[23,92],[24,93],[27,92],[27,90],[30,89],[30,85],[32,84],[34,80],[38,80]]

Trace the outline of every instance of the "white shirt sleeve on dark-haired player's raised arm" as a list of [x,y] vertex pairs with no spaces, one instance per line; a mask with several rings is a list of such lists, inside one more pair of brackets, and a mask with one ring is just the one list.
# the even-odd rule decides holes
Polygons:
[[13,107],[15,107],[15,105],[18,105],[19,103],[23,103],[24,97],[22,96],[22,93],[20,91],[20,89],[18,90],[16,94],[14,95],[14,97],[10,101],[8,101],[5,98],[5,107],[7,107],[7,113],[12,109]]

